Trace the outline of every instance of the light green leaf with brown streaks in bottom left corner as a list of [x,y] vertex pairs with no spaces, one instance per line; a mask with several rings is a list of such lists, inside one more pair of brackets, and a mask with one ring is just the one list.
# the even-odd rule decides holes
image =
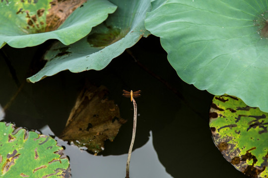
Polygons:
[[63,148],[50,136],[0,122],[1,178],[70,178]]

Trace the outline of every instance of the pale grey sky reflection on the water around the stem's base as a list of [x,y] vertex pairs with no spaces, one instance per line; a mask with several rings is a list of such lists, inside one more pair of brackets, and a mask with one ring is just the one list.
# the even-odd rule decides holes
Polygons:
[[[42,134],[54,134],[48,125],[41,129]],[[128,154],[118,156],[93,156],[76,146],[56,137],[60,145],[66,147],[70,158],[72,178],[125,178]],[[142,163],[142,164],[141,164]],[[172,178],[159,162],[152,143],[152,132],[148,142],[132,153],[130,164],[131,178]]]

